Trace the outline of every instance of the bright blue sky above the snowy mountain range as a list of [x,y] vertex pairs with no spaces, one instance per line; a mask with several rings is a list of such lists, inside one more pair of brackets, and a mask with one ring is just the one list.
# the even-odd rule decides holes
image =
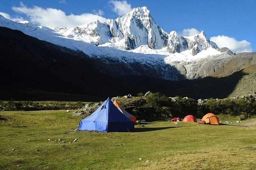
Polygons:
[[[1,0],[0,12],[9,14],[10,18],[22,17],[24,20],[51,26],[52,24],[54,25],[54,23],[58,23],[54,21],[58,20],[58,18],[54,19],[54,14],[49,13],[49,16],[52,17],[47,20],[42,19],[43,16],[37,16],[37,19],[35,19],[35,16],[31,14],[31,9],[35,10],[34,6],[38,6],[43,10],[46,10],[46,8],[59,10],[58,12],[61,10],[61,12],[65,12],[67,16],[70,14],[80,16],[82,14],[91,13],[101,15],[101,18],[115,19],[119,15],[122,15],[122,12],[129,11],[129,7],[147,6],[156,23],[166,32],[175,30],[182,35],[182,33],[184,33],[183,29],[195,28],[198,31],[204,30],[207,37],[213,37],[211,40],[217,41],[215,43],[219,46],[222,46],[222,43],[224,45],[228,44],[230,47],[233,45],[234,47],[231,48],[241,50],[241,52],[244,49],[250,50],[250,48],[251,51],[256,51],[256,0],[131,0],[120,2],[124,4],[123,6],[121,4],[121,8],[118,8],[116,2],[117,1],[109,2],[107,0],[23,0],[23,6],[26,8],[14,10],[13,7],[21,7],[21,1]],[[86,17],[93,20],[97,18],[94,15],[86,15]],[[87,18],[83,18],[84,21],[87,21]],[[52,21],[50,21],[51,19]],[[90,21],[90,19],[88,21]],[[80,22],[81,21],[78,23]],[[67,20],[66,23],[73,22]],[[64,21],[61,22],[60,26],[63,26],[63,24],[65,25]],[[246,40],[247,43],[242,40]]]

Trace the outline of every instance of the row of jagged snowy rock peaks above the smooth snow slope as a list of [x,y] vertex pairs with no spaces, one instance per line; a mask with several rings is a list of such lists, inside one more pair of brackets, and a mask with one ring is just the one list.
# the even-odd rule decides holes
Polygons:
[[54,30],[63,36],[86,43],[126,50],[146,45],[150,49],[167,47],[166,52],[171,54],[191,50],[191,55],[196,55],[210,47],[218,49],[218,46],[206,37],[204,31],[191,37],[181,37],[176,31],[171,31],[168,35],[156,24],[147,7],[134,8],[126,15],[107,23],[95,21],[74,28]]

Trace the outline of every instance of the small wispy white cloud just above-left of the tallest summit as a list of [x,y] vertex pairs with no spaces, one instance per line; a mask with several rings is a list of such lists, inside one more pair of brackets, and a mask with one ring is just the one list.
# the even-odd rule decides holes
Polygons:
[[108,3],[114,5],[112,11],[117,13],[119,16],[125,15],[132,11],[132,5],[128,4],[127,1],[109,1]]

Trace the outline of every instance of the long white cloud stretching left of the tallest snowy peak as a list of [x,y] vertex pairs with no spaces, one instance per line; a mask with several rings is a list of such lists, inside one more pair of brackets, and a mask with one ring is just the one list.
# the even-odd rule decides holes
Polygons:
[[27,7],[22,2],[19,7],[12,7],[12,10],[22,14],[26,14],[30,18],[30,22],[43,25],[45,27],[75,27],[96,20],[107,22],[102,16],[83,13],[81,15],[66,15],[65,12],[55,8],[42,8],[38,6]]

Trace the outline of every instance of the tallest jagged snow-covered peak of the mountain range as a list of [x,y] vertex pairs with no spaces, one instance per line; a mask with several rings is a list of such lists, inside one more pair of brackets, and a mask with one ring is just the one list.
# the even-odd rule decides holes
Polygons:
[[148,45],[159,49],[167,45],[167,33],[164,32],[150,15],[147,7],[137,7],[116,19],[125,38],[125,48],[134,49]]

